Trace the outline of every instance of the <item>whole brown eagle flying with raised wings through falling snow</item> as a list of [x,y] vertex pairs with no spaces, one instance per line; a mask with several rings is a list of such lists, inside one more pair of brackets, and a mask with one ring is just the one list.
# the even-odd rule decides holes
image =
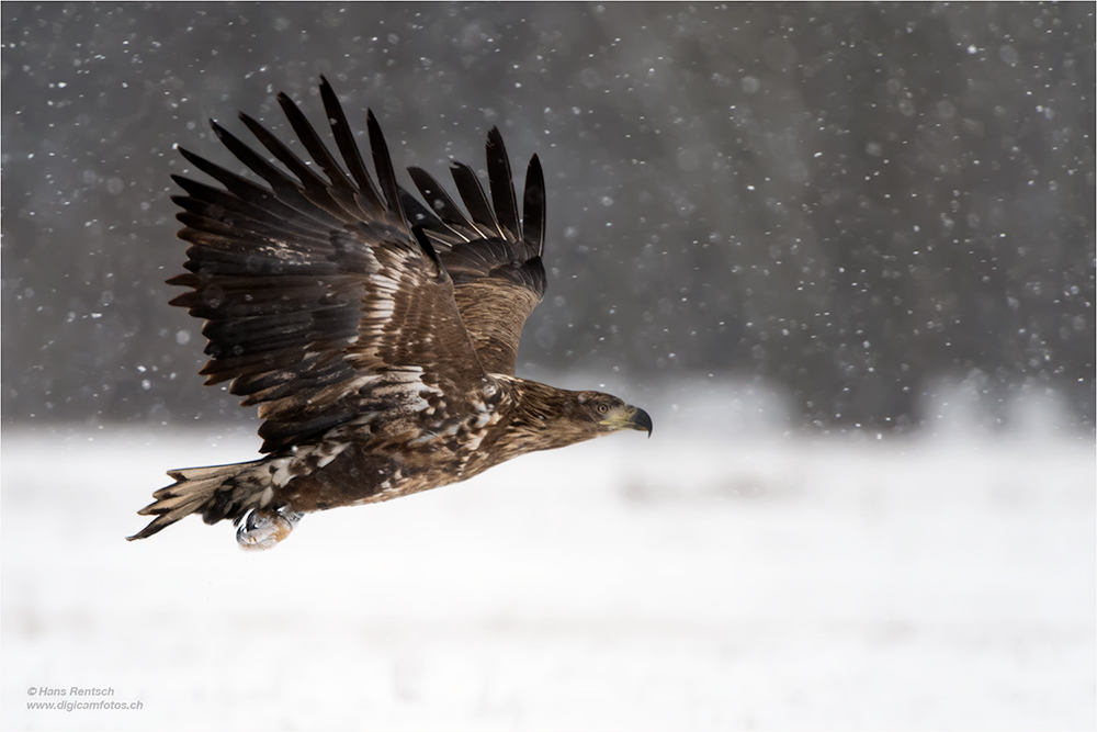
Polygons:
[[522,326],[545,291],[545,184],[534,155],[522,211],[498,127],[487,135],[490,198],[450,172],[464,211],[427,171],[397,183],[367,111],[374,174],[327,79],[320,99],[342,165],[285,94],[304,161],[259,122],[244,125],[281,167],[211,121],[265,184],[186,149],[219,187],[172,176],[185,195],[188,288],[171,305],[202,320],[206,384],[228,381],[263,420],[259,460],[168,471],[137,511],[145,539],[191,514],[230,519],[245,549],[270,549],[308,513],[391,500],[466,481],[518,455],[623,429],[643,409],[596,391],[514,375]]

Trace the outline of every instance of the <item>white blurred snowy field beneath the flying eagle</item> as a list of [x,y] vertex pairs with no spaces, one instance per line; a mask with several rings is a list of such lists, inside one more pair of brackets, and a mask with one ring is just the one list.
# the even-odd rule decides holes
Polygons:
[[[655,416],[652,440],[308,516],[261,554],[194,518],[123,540],[166,469],[251,459],[257,438],[7,429],[0,724],[1097,725],[1090,438]],[[89,700],[72,687],[139,709],[29,708]]]

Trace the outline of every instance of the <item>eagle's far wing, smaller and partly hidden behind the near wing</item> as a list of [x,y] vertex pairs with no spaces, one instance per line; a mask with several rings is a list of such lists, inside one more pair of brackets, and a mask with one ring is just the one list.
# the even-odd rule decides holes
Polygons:
[[428,206],[406,195],[408,214],[422,228],[453,278],[457,309],[480,363],[490,373],[513,375],[522,326],[545,291],[541,262],[545,237],[545,182],[538,156],[530,159],[522,218],[510,159],[498,127],[487,136],[488,202],[472,168],[450,168],[465,215],[439,182],[408,168]]

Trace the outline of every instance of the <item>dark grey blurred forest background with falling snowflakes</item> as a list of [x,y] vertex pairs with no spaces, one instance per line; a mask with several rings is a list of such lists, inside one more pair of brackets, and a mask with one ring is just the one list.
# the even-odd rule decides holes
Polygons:
[[5,424],[251,418],[167,305],[172,146],[241,169],[207,119],[289,139],[273,94],[323,123],[325,74],[398,168],[483,169],[491,125],[516,170],[541,156],[520,374],[736,379],[796,424],[880,429],[951,379],[991,423],[1053,390],[1093,429],[1094,3],[0,12]]

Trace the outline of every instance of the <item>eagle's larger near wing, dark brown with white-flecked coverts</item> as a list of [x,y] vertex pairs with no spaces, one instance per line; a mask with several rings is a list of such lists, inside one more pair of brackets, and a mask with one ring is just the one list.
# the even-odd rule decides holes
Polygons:
[[389,436],[437,429],[448,415],[467,414],[467,401],[487,379],[454,280],[429,238],[409,224],[372,112],[377,183],[323,77],[320,93],[349,176],[280,94],[323,176],[240,114],[289,173],[212,123],[269,188],[182,149],[224,188],[174,177],[186,192],[172,199],[183,209],[179,236],[191,247],[188,273],[168,282],[191,291],[172,304],[206,320],[206,383],[231,380],[229,392],[244,396],[242,405],[259,405],[263,452],[352,420],[387,425]]

